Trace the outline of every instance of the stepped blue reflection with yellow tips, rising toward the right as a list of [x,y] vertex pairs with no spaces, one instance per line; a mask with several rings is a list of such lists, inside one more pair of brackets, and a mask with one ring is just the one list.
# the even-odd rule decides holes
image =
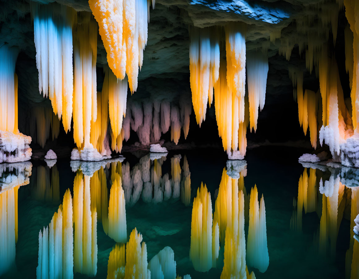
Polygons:
[[37,278],[73,278],[73,206],[70,189],[50,226],[39,232]]

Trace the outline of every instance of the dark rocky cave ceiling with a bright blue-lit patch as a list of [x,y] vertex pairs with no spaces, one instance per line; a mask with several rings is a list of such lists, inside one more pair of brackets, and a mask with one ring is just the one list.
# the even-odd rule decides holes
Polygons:
[[[38,2],[47,4],[53,1],[38,0]],[[71,6],[76,11],[91,11],[87,0],[58,0],[56,2]],[[229,21],[242,21],[248,24],[247,52],[268,49],[269,74],[266,106],[280,102],[283,94],[286,96],[284,98],[286,101],[293,100],[292,81],[288,76],[290,64],[302,67],[306,72],[304,87],[307,83],[310,89],[317,90],[318,82],[315,74],[309,74],[306,71],[305,57],[303,54],[299,55],[298,44],[293,44],[294,49],[290,61],[287,61],[279,52],[281,46],[286,41],[290,41],[293,34],[297,34],[297,41],[301,42],[305,49],[308,38],[306,35],[301,37],[296,30],[297,22],[303,18],[312,17],[314,19],[312,28],[327,28],[330,32],[330,27],[316,25],[322,25],[318,20],[318,13],[334,10],[330,9],[333,5],[339,13],[337,45],[340,45],[343,36],[341,32],[346,25],[346,19],[343,10],[338,12],[337,7],[340,4],[337,4],[335,0],[325,1],[325,3],[322,0],[158,0],[155,3],[155,9],[150,8],[148,43],[144,51],[143,67],[139,72],[139,88],[132,97],[171,100],[178,98],[180,94],[190,94],[189,26],[208,27],[224,25]],[[321,12],[318,12],[318,8]],[[22,102],[20,105],[34,103],[50,105],[50,102],[44,100],[38,93],[38,71],[35,63],[36,52],[29,1],[1,1],[0,9],[0,44],[8,43],[20,49],[17,62],[19,100]],[[271,33],[274,34],[280,30],[281,37],[270,40]],[[102,68],[106,64],[106,51],[101,37],[98,36],[98,90],[102,89]],[[265,110],[263,113],[262,117],[265,117]],[[211,117],[214,117],[214,113]]]

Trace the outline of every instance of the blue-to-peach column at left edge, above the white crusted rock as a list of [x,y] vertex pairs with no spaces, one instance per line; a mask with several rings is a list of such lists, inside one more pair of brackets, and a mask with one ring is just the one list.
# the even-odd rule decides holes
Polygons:
[[17,134],[18,78],[15,74],[17,48],[0,47],[0,130]]

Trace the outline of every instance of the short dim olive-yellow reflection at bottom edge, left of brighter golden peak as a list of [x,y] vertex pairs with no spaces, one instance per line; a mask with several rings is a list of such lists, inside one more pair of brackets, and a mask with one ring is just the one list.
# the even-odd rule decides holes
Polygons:
[[125,244],[116,243],[108,256],[107,279],[125,277]]

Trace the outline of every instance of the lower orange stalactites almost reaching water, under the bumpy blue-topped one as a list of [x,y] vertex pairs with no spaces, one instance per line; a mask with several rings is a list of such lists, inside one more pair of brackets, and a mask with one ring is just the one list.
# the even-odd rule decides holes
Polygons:
[[[218,134],[222,138],[223,148],[227,153],[239,151],[242,156],[247,148],[247,126],[249,124],[248,96],[243,98],[231,91],[226,78],[226,60],[222,59],[219,78],[214,86],[214,107]],[[246,111],[246,113],[244,113]],[[243,112],[244,118],[241,118]]]

